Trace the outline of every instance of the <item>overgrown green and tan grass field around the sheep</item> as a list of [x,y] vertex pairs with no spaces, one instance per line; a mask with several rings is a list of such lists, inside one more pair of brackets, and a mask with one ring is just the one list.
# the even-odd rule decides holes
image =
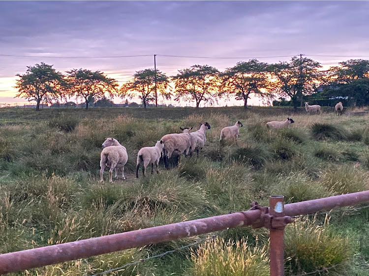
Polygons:
[[[368,190],[369,117],[305,110],[238,107],[172,109],[0,109],[0,253],[249,209]],[[292,117],[288,129],[265,123]],[[240,120],[236,143],[220,130]],[[200,158],[135,179],[138,150],[181,127],[207,121]],[[128,151],[126,180],[99,182],[101,143],[117,138]],[[141,171],[140,171],[141,176]],[[108,172],[104,174],[108,179]],[[298,219],[286,227],[286,275],[369,276],[368,209]],[[209,241],[109,275],[269,275],[268,231],[242,227]],[[18,275],[92,275],[190,244],[191,237],[80,259]]]

